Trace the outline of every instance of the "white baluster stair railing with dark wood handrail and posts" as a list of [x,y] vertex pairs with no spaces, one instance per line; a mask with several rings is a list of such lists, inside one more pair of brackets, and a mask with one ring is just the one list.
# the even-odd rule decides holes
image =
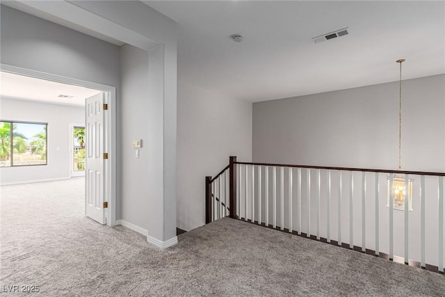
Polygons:
[[[230,215],[444,272],[445,173],[236,159],[231,164],[206,179],[211,192],[210,221]],[[405,189],[414,179],[412,211],[408,199],[403,210],[394,209],[394,193],[387,188],[393,188],[396,173],[403,175]]]

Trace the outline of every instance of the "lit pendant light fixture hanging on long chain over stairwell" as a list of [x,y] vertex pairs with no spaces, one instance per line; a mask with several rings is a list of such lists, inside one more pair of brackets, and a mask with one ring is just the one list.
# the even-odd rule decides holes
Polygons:
[[[398,97],[398,168],[402,170],[402,63],[405,59],[397,60],[396,63],[400,65],[400,79],[399,79],[399,97]],[[393,196],[393,207],[398,210],[405,210],[405,199],[408,202],[408,210],[412,211],[412,179],[405,182],[405,175],[401,173],[394,173],[391,187],[391,180],[388,177],[388,200],[387,207],[389,207],[389,199],[391,193]]]

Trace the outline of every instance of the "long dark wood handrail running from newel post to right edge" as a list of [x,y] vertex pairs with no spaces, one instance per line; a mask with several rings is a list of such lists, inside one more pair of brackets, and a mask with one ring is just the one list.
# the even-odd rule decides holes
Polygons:
[[274,163],[250,163],[250,162],[235,162],[235,163],[236,164],[243,164],[243,165],[257,165],[257,166],[312,168],[312,169],[361,171],[361,172],[383,172],[383,173],[399,173],[399,174],[405,174],[405,175],[434,175],[434,176],[439,176],[439,177],[444,177],[445,176],[445,172],[384,170],[384,169],[369,169],[369,168],[327,167],[327,166],[291,165],[291,164],[274,164]]

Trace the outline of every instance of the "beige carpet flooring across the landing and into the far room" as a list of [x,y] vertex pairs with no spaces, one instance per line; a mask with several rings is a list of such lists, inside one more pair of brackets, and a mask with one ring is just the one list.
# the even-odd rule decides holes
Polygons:
[[83,216],[83,179],[0,194],[0,296],[445,295],[445,275],[230,218],[159,250]]

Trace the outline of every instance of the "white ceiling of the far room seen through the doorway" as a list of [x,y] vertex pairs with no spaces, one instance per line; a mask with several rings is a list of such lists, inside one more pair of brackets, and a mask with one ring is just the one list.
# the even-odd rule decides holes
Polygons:
[[[85,106],[85,99],[98,93],[99,90],[0,72],[0,96],[10,99]],[[59,95],[72,98],[60,98]]]

